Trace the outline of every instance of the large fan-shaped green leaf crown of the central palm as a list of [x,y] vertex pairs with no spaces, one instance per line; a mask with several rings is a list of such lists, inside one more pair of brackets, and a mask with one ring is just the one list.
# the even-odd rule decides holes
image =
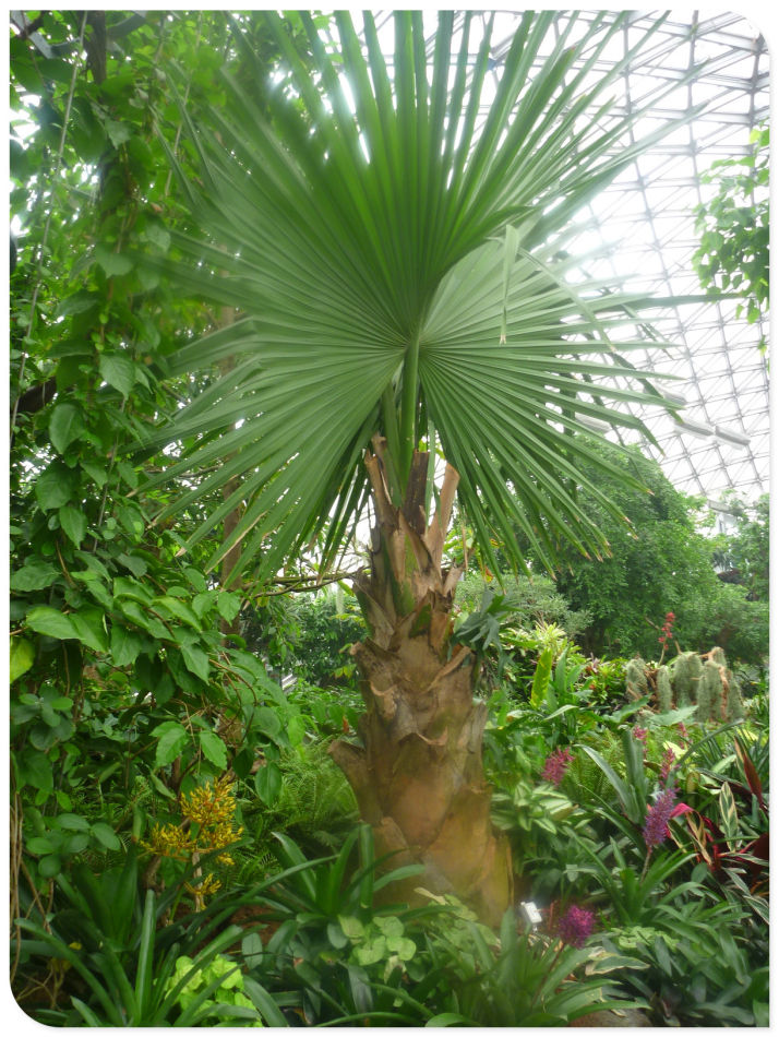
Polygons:
[[627,14],[571,16],[541,59],[555,15],[527,13],[481,120],[491,22],[472,64],[470,15],[457,40],[441,12],[430,52],[422,14],[396,12],[388,67],[370,13],[361,35],[334,15],[337,55],[301,17],[314,71],[267,13],[286,86],[263,110],[226,71],[227,109],[211,131],[189,127],[200,233],[176,235],[171,273],[240,315],[170,359],[177,374],[232,358],[155,439],[191,444],[166,478],[217,465],[171,509],[229,484],[193,537],[243,508],[215,563],[240,544],[236,571],[259,560],[268,575],[323,529],[331,560],[369,497],[362,458],[380,434],[396,504],[421,441],[454,465],[488,558],[499,536],[520,564],[517,531],[542,558],[562,535],[598,551],[572,489],[577,461],[607,462],[577,416],[643,429],[609,404],[664,402],[621,358],[639,344],[623,341],[625,311],[646,300],[574,287],[563,240],[650,142],[624,144],[640,112],[609,100],[646,38],[603,73]]

